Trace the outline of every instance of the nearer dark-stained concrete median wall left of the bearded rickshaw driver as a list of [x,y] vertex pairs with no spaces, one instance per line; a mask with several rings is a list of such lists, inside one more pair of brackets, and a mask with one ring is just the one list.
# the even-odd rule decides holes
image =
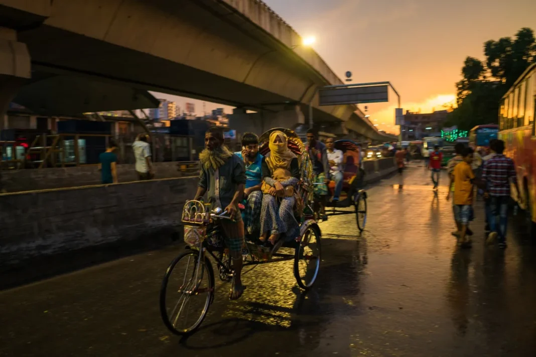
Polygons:
[[0,288],[182,237],[197,178],[0,195]]

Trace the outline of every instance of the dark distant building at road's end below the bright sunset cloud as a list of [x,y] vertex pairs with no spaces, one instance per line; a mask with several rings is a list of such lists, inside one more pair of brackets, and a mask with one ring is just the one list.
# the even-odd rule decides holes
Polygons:
[[441,136],[447,115],[447,110],[438,110],[433,113],[406,111],[404,125],[400,126],[402,140],[421,140],[426,136]]

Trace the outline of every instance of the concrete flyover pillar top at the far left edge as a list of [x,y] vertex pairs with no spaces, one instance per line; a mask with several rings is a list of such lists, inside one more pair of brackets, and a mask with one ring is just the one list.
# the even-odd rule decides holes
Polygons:
[[17,42],[17,31],[0,27],[0,130],[9,103],[29,78],[31,63],[26,44]]

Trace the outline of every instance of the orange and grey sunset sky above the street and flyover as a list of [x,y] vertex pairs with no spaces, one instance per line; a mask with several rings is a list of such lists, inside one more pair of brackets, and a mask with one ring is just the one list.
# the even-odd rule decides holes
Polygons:
[[[428,112],[455,100],[466,56],[483,59],[483,43],[536,29],[536,0],[264,0],[344,78],[391,81],[404,110]],[[184,108],[183,98],[169,95]],[[207,103],[210,110],[217,105]],[[362,106],[360,105],[362,108]],[[368,105],[380,129],[394,126],[396,97]],[[363,108],[362,108],[363,109]],[[201,102],[196,111],[202,113]],[[385,123],[385,124],[382,124]]]

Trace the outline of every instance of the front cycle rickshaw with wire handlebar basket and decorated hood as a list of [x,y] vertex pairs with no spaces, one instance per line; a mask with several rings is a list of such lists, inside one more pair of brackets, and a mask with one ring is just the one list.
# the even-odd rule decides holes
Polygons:
[[[269,151],[268,140],[274,130],[284,132],[288,147],[299,158],[300,183],[295,190],[294,215],[300,223],[298,237],[282,237],[272,248],[257,244],[256,237],[246,237],[247,257],[243,267],[260,263],[294,260],[297,284],[308,290],[314,284],[321,262],[321,231],[310,208],[312,200],[312,164],[300,138],[292,130],[274,128],[259,138],[259,152]],[[160,290],[160,314],[166,327],[176,335],[189,335],[199,328],[214,301],[214,270],[209,259],[217,263],[222,281],[234,277],[228,251],[223,244],[221,219],[230,219],[226,212],[202,201],[187,201],[182,212],[184,241],[187,249],[168,266]],[[185,264],[181,274],[179,270]],[[184,269],[184,268],[182,268]],[[190,307],[193,305],[193,313]]]

